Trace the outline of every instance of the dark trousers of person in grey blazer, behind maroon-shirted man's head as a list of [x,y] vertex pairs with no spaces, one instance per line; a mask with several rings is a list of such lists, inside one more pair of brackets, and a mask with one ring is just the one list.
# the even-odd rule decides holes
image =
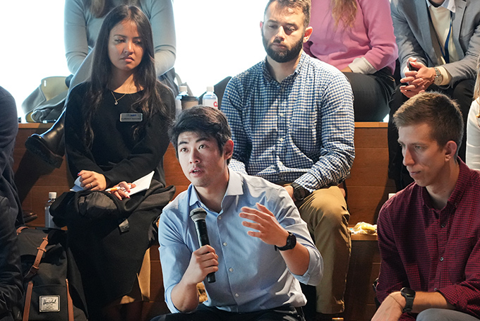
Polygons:
[[[462,144],[460,145],[458,152],[458,155],[463,161],[465,160],[465,148],[467,141],[467,118],[470,105],[473,102],[474,85],[474,79],[467,79],[462,80],[454,87],[449,87],[447,89],[441,89],[436,85],[431,85],[427,89],[428,92],[441,92],[457,101],[460,111],[462,111],[464,123]],[[402,104],[407,102],[407,100],[408,97],[400,92],[400,85],[397,86],[397,89],[393,93],[392,100],[390,102],[390,120],[388,121],[388,177],[395,180],[395,186],[397,187],[397,190],[402,190],[409,185],[409,183],[413,182],[413,179],[410,177],[407,169],[402,163],[403,156],[402,148],[398,144],[398,130],[393,123],[393,114],[395,114],[395,111],[400,109]]]

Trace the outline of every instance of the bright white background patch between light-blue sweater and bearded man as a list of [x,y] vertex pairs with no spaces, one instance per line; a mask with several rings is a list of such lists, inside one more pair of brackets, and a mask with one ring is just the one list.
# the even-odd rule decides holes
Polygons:
[[265,0],[176,0],[175,70],[193,95],[265,58]]

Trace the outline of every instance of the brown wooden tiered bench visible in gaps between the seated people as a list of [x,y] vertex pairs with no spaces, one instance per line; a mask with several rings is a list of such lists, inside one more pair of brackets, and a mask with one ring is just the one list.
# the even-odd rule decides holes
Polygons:
[[[44,202],[49,192],[58,195],[73,186],[66,170],[66,162],[59,169],[42,162],[25,149],[25,140],[32,133],[43,133],[50,125],[20,123],[14,151],[14,171],[18,193],[24,210],[31,210],[38,218],[32,226],[44,226]],[[350,224],[357,222],[376,223],[378,211],[387,200],[395,185],[388,179],[388,147],[386,123],[356,123],[356,158],[350,177],[347,179]],[[168,185],[176,186],[176,194],[188,187],[188,180],[176,160],[174,148],[169,146],[164,156],[165,178]],[[145,304],[143,320],[167,313],[164,303],[162,271],[157,248],[151,250],[152,293]],[[352,259],[345,293],[345,320],[370,320],[374,312],[371,283],[378,276],[380,260],[375,238],[352,237]],[[367,293],[367,295],[366,295]]]

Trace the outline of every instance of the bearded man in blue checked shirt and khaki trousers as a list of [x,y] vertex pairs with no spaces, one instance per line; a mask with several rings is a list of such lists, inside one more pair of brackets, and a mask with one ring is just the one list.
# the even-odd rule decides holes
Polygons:
[[324,259],[317,320],[344,310],[351,241],[339,183],[354,161],[352,87],[302,51],[309,0],[270,0],[260,30],[266,59],[230,80],[222,111],[235,143],[229,168],[287,190]]

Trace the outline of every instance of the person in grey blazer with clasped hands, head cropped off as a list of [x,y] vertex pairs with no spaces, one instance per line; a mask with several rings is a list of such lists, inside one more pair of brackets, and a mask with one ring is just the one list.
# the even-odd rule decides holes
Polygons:
[[[391,10],[403,78],[390,102],[389,176],[395,179],[397,190],[401,190],[412,183],[412,178],[402,166],[392,116],[410,97],[419,92],[437,91],[455,99],[464,121],[467,120],[480,52],[480,2],[392,0]],[[459,147],[462,159],[465,136]]]

